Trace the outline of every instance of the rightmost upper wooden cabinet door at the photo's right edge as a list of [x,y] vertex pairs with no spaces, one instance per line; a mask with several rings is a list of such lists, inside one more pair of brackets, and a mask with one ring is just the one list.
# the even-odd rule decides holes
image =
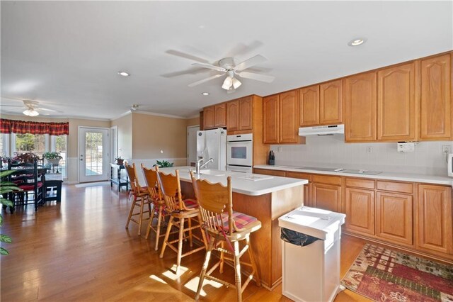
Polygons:
[[451,133],[451,59],[421,60],[420,139],[449,140]]

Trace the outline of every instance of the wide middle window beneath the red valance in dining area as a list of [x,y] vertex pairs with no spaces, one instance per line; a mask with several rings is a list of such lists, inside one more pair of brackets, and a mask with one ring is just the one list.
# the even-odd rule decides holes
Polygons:
[[13,134],[12,138],[13,152],[33,152],[35,155],[42,157],[42,153],[49,150],[47,134]]

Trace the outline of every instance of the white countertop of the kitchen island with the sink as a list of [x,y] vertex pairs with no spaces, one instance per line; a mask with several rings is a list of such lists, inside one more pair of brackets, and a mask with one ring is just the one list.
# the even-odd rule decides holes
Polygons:
[[[159,168],[159,171],[166,174],[175,174],[175,170],[179,170],[179,178],[181,181],[192,182],[190,179],[189,169],[194,170],[194,167],[171,167]],[[222,183],[226,186],[226,177],[231,176],[231,187],[236,193],[258,196],[263,194],[280,191],[282,189],[292,188],[294,186],[302,186],[308,184],[305,179],[294,179],[287,177],[274,177],[261,174],[249,174],[219,170],[209,170],[212,174],[195,174],[198,179],[206,179],[211,183]],[[203,170],[202,170],[203,172]]]

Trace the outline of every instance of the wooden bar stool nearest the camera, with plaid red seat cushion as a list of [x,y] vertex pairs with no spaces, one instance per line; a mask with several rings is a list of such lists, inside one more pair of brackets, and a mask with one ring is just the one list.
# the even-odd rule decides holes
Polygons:
[[[242,293],[248,283],[255,279],[258,286],[261,285],[260,277],[256,268],[256,262],[250,245],[250,234],[261,228],[261,223],[255,217],[233,211],[233,198],[231,193],[231,177],[227,178],[226,186],[222,184],[211,184],[209,181],[195,179],[193,172],[192,177],[193,190],[197,197],[200,207],[200,216],[202,217],[203,228],[207,230],[209,245],[200,273],[197,294],[195,300],[200,298],[203,280],[210,279],[222,283],[226,286],[236,288],[237,301],[242,301]],[[245,240],[245,245],[239,249],[239,242]],[[207,267],[210,262],[212,250],[220,252],[219,261],[208,271]],[[248,251],[251,262],[241,262],[241,256]],[[232,255],[232,258],[225,257],[224,254]],[[211,276],[217,267],[220,273],[223,272],[225,260],[234,264],[235,285],[227,281]],[[241,282],[241,264],[251,267],[252,272]]]

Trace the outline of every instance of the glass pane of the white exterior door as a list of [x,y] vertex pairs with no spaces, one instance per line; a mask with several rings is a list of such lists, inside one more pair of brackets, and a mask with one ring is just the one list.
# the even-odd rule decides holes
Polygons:
[[103,134],[87,132],[85,134],[85,175],[103,174]]

